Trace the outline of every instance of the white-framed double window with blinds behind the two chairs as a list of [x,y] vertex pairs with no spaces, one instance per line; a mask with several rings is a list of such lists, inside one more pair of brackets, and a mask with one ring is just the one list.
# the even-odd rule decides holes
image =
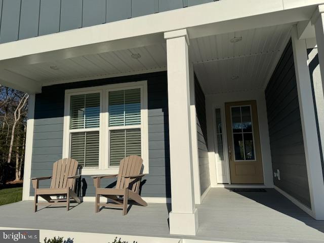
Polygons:
[[117,173],[132,154],[148,173],[147,82],[65,91],[63,157],[75,158],[82,174]]

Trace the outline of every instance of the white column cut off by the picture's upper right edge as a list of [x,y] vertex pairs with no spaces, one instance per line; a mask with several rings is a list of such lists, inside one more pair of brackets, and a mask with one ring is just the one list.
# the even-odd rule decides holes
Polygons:
[[[318,60],[322,83],[324,84],[324,5],[319,5],[315,10],[311,24],[315,27],[316,44],[318,50]],[[323,85],[324,88],[324,85]]]

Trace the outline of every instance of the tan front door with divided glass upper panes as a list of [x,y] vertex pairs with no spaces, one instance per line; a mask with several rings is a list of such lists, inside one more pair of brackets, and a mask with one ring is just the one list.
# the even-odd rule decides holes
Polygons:
[[225,104],[231,183],[263,184],[256,101]]

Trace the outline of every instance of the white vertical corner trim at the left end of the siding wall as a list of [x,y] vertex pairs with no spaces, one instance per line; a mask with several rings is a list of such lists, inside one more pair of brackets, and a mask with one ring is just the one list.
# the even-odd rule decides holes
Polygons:
[[29,199],[29,191],[30,191],[31,155],[32,155],[32,143],[33,143],[33,136],[34,136],[34,111],[35,111],[35,95],[30,94],[28,97],[28,114],[27,114],[27,127],[26,127],[24,183],[22,188],[23,200]]

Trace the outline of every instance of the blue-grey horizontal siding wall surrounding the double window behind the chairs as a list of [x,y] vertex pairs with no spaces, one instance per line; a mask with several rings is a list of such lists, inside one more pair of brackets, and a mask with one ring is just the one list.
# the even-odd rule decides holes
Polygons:
[[[168,125],[168,89],[166,72],[89,80],[43,87],[36,95],[31,177],[52,175],[53,163],[62,158],[64,95],[66,89],[147,80],[149,174],[143,178],[141,195],[171,197]],[[114,180],[103,180],[108,186]],[[42,181],[41,187],[48,187]],[[94,196],[91,176],[83,176],[79,187],[82,196]],[[31,187],[30,195],[34,191]]]

